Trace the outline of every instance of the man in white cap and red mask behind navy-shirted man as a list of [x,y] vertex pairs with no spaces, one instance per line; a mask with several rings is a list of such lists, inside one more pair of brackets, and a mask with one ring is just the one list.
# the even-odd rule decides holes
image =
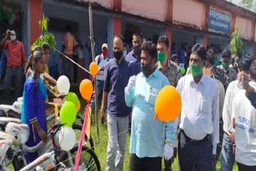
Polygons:
[[[95,58],[95,62],[98,64],[98,75],[96,76],[96,87],[98,93],[98,102],[101,104],[102,101],[102,93],[103,93],[103,86],[104,86],[104,69],[106,63],[109,61],[107,58],[108,54],[108,46],[106,43],[102,45],[102,54],[98,55]],[[95,100],[94,97],[91,101],[90,108],[94,109]]]

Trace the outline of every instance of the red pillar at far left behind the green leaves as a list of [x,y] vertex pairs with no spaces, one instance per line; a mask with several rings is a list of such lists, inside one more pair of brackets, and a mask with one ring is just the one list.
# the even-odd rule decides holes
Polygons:
[[41,29],[38,24],[41,19],[42,0],[30,0],[30,45],[41,35]]

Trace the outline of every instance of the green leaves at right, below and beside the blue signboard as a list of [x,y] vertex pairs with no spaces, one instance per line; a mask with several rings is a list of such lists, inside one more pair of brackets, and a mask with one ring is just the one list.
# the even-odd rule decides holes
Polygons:
[[230,42],[230,49],[231,53],[235,54],[235,58],[238,57],[238,55],[243,54],[243,44],[242,44],[242,38],[240,37],[240,31],[238,30],[238,27],[234,27],[234,32],[231,34],[231,42]]

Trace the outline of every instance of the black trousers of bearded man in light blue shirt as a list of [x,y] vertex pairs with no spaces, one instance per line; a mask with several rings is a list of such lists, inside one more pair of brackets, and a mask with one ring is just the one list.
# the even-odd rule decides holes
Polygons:
[[130,154],[130,171],[161,171],[162,157],[139,158]]

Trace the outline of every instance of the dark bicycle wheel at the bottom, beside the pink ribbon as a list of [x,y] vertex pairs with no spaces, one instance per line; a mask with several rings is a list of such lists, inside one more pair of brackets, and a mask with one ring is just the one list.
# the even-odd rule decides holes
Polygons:
[[[70,167],[74,166],[77,151],[78,151],[78,146],[75,146],[73,149],[70,150],[70,157],[72,158],[72,160],[70,160],[72,162],[72,165],[70,165]],[[67,157],[66,159],[68,158],[70,159],[70,157]],[[69,163],[69,162],[66,160],[66,163]],[[81,158],[79,162],[79,170],[86,170],[86,171],[101,170],[101,165],[98,161],[98,157],[96,156],[96,154],[92,149],[89,149],[86,146],[82,146],[82,153],[81,153]]]

